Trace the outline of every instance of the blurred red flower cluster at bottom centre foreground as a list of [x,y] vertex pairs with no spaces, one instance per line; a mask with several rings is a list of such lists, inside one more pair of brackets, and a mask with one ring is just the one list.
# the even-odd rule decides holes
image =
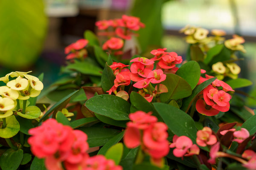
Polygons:
[[131,122],[127,123],[124,144],[128,148],[140,146],[143,153],[150,156],[151,162],[161,167],[163,157],[169,153],[168,127],[163,122],[157,122],[151,113],[143,111],[131,113],[129,118]]

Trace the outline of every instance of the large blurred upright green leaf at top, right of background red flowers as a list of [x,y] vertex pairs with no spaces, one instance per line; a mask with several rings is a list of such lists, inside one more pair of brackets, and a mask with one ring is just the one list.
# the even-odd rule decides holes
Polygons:
[[141,22],[145,24],[145,28],[137,31],[140,35],[138,40],[142,51],[145,51],[149,45],[161,45],[163,37],[162,4],[163,0],[147,0],[146,3],[144,0],[135,0],[133,3],[131,15],[140,17]]

